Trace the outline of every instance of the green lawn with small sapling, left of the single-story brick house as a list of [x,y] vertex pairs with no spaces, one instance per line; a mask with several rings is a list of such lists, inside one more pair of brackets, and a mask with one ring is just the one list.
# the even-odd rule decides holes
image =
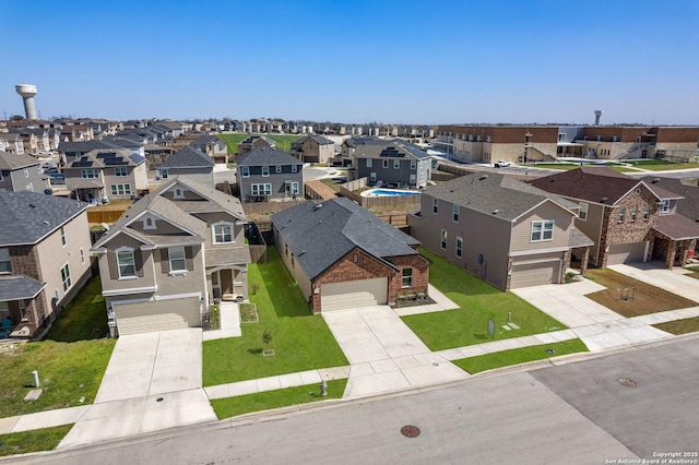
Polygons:
[[[269,247],[266,257],[266,263],[248,266],[259,323],[244,324],[241,337],[203,343],[205,386],[348,365],[325,321],[310,313],[276,249]],[[269,344],[262,341],[265,332]],[[274,355],[264,356],[266,349]]]

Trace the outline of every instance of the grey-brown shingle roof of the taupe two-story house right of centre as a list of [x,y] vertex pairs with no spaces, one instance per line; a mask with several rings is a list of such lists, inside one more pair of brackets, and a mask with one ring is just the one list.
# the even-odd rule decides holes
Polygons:
[[[462,176],[427,188],[424,193],[498,218],[514,220],[537,205],[550,201],[570,211],[579,205],[514,178],[498,174]],[[496,212],[497,213],[494,213]]]

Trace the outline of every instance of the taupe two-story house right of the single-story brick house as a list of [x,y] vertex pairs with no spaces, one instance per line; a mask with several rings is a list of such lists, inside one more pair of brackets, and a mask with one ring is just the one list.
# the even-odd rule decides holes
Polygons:
[[574,229],[577,208],[517,179],[473,174],[423,191],[408,224],[430,251],[509,290],[565,282],[572,250],[592,246]]

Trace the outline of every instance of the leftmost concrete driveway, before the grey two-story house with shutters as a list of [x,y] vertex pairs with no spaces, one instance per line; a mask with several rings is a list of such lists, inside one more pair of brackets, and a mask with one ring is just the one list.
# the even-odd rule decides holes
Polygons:
[[121,336],[90,406],[59,449],[214,421],[202,389],[201,329]]

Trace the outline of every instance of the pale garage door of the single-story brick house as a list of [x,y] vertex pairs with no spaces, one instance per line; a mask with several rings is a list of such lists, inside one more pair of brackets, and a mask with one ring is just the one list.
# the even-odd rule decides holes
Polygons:
[[323,284],[320,293],[321,311],[386,305],[388,278]]

